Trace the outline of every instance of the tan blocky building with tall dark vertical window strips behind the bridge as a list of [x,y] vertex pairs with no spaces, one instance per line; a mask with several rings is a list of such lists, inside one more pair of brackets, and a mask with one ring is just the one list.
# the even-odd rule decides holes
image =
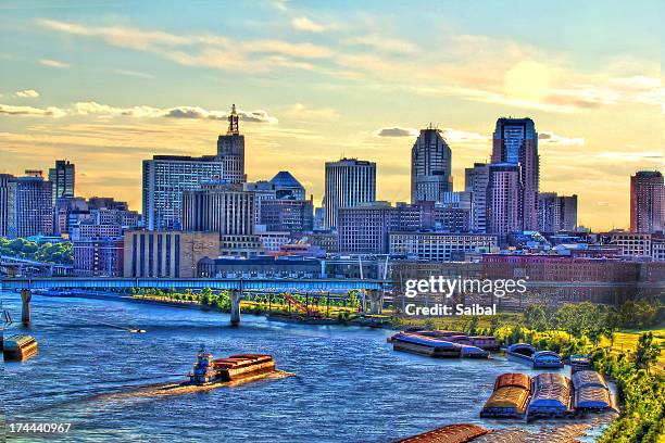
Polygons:
[[127,230],[124,235],[125,277],[197,276],[197,263],[219,255],[217,232]]

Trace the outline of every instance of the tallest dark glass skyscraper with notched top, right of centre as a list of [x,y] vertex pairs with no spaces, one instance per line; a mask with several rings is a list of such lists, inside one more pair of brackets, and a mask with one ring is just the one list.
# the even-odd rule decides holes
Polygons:
[[538,229],[540,160],[538,132],[532,119],[502,117],[497,121],[492,163],[519,165],[522,229]]

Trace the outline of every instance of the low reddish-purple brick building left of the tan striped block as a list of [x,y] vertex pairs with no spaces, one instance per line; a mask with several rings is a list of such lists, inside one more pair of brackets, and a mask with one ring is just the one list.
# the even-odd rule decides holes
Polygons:
[[87,238],[73,242],[74,275],[77,277],[122,277],[123,238]]

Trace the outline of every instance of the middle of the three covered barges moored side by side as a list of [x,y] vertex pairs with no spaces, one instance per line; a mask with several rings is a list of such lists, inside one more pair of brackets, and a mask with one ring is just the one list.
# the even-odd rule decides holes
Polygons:
[[531,380],[534,395],[527,409],[527,419],[538,417],[566,417],[573,413],[570,379],[553,372],[539,374]]

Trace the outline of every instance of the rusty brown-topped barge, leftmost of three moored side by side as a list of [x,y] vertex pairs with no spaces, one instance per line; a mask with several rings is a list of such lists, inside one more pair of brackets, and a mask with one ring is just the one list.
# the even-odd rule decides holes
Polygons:
[[482,418],[524,418],[531,396],[531,379],[507,372],[497,377],[494,391],[480,410]]

